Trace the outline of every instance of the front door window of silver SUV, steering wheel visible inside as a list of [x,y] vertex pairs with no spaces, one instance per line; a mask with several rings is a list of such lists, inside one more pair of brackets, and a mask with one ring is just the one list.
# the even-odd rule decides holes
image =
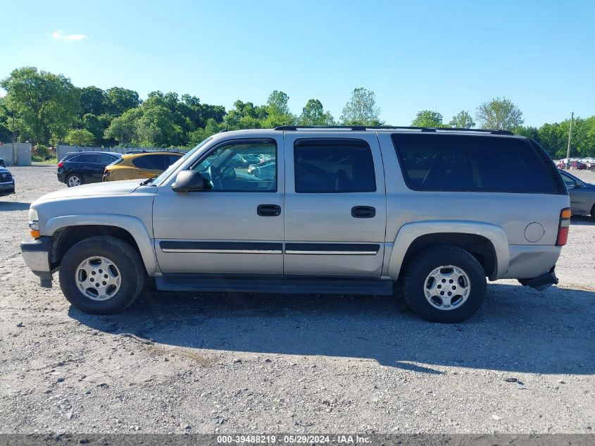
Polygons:
[[[254,165],[246,159],[266,159]],[[211,151],[194,170],[207,190],[227,192],[275,192],[277,190],[277,145],[273,140],[229,143]]]

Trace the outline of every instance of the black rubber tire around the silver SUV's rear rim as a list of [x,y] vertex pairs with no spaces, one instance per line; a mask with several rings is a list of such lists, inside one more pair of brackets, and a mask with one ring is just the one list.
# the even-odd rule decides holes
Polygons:
[[[453,309],[439,309],[430,304],[425,295],[426,278],[440,266],[456,266],[468,277],[467,286],[470,288],[466,300],[462,297],[458,298],[462,303],[460,306],[454,306]],[[458,247],[444,245],[425,249],[415,255],[406,266],[403,280],[405,300],[416,314],[427,321],[441,323],[465,321],[480,309],[486,292],[486,276],[480,262],[469,252]],[[441,302],[439,297],[432,299],[434,302]],[[456,304],[456,300],[453,301],[453,305]]]

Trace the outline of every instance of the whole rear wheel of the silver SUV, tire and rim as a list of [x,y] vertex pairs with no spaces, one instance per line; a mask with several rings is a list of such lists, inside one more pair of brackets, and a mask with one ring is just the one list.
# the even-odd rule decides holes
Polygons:
[[480,262],[464,249],[440,246],[417,254],[405,271],[403,292],[411,309],[427,321],[465,321],[487,292]]

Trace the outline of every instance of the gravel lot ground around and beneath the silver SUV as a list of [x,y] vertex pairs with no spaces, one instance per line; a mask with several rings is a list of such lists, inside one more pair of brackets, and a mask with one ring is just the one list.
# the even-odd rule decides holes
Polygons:
[[0,433],[594,432],[589,218],[572,219],[558,287],[499,280],[456,325],[398,297],[149,292],[125,314],[89,316],[20,257],[30,202],[65,187],[55,167],[11,171]]

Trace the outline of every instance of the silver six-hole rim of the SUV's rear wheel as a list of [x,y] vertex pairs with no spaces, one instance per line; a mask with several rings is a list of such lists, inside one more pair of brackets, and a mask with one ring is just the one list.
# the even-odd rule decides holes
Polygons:
[[470,292],[469,276],[458,266],[439,266],[425,278],[424,294],[427,302],[442,311],[460,308]]

